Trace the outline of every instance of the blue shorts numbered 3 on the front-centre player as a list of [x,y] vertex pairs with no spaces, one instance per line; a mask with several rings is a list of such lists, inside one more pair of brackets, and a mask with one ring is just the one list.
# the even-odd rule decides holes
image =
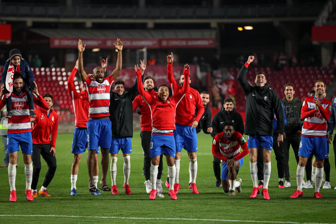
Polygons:
[[152,135],[150,143],[151,158],[165,154],[175,158],[176,146],[173,135]]

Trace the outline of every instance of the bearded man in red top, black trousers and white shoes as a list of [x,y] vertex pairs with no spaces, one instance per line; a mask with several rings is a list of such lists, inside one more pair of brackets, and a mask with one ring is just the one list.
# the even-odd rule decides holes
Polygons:
[[[144,70],[146,69],[146,65],[143,65],[141,63],[140,65],[141,74],[143,74]],[[154,81],[151,76],[146,76],[143,79],[143,88],[145,91],[147,91],[149,94],[151,94],[154,97],[157,97],[158,93],[154,91]],[[152,114],[151,109],[146,103],[146,101],[142,98],[141,95],[137,95],[135,99],[133,100],[133,112],[137,110],[137,108],[140,108],[141,113],[141,132],[140,132],[140,138],[141,138],[141,146],[143,150],[143,174],[145,176],[145,182],[144,185],[146,186],[146,192],[149,194],[152,190],[152,183],[151,183],[151,175],[150,175],[150,169],[151,169],[151,153],[150,153],[150,143],[151,143],[151,136],[152,136]],[[163,192],[162,189],[162,181],[161,181],[161,175],[162,175],[162,156],[160,157],[159,167],[158,167],[158,176],[156,180],[156,188],[159,193]]]

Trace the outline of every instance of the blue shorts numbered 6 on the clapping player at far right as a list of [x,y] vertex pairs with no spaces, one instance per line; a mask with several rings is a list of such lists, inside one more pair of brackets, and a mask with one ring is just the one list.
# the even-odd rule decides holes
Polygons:
[[301,137],[299,156],[309,158],[312,153],[314,153],[316,159],[328,158],[327,136]]

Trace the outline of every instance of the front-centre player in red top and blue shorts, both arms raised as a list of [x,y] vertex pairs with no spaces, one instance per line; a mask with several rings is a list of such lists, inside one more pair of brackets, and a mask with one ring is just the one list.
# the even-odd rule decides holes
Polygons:
[[[186,74],[186,81],[189,80],[189,65],[184,65],[184,73]],[[175,181],[176,168],[174,164],[176,145],[174,140],[175,129],[175,110],[178,103],[184,97],[189,85],[184,85],[174,96],[169,97],[168,86],[162,84],[158,87],[158,96],[154,97],[143,89],[141,81],[141,71],[138,65],[134,65],[134,70],[138,78],[138,90],[143,99],[148,103],[151,109],[152,117],[152,137],[150,142],[150,151],[152,164],[150,168],[152,191],[150,199],[155,199],[157,194],[156,178],[158,176],[158,167],[160,156],[165,154],[168,165],[168,177],[171,183],[168,195],[173,200],[176,200],[176,194],[173,188]],[[167,64],[167,73],[172,74],[172,63]]]

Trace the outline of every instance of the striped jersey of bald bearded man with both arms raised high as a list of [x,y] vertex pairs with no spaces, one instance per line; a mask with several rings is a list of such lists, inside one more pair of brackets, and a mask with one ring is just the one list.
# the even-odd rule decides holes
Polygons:
[[110,116],[110,89],[114,82],[112,76],[108,76],[102,83],[98,83],[89,77],[85,81],[86,91],[89,95],[89,117],[99,118]]

